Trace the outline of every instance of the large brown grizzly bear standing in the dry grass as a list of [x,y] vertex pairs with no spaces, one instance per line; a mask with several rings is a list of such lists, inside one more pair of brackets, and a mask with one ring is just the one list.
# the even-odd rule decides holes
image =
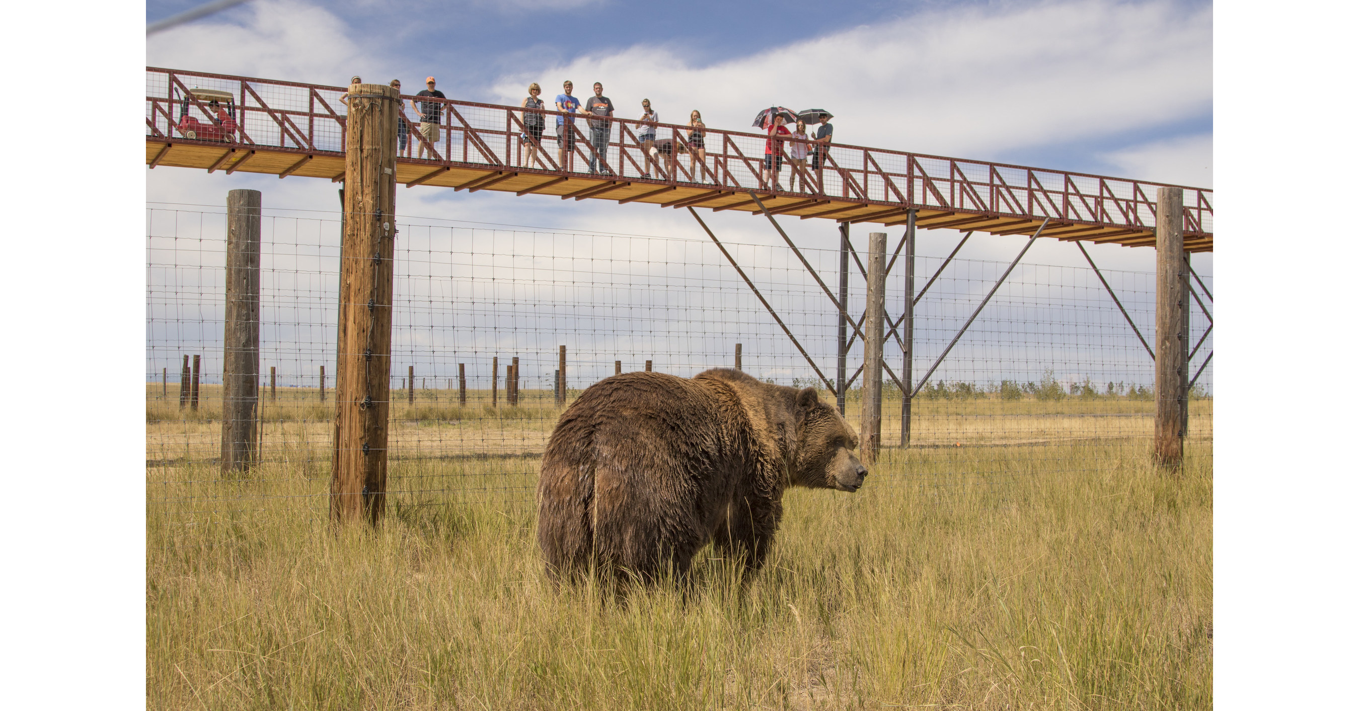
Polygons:
[[716,368],[614,375],[557,420],[538,480],[538,545],[554,580],[667,570],[712,541],[757,571],[794,487],[858,491],[859,438],[811,387]]

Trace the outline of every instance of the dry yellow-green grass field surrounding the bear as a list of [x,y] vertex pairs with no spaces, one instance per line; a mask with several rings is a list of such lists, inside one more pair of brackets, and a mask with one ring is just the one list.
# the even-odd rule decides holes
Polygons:
[[219,392],[148,389],[149,708],[1212,706],[1211,400],[1178,470],[1150,401],[920,401],[863,491],[786,496],[754,579],[709,549],[689,598],[616,604],[542,574],[550,393],[448,394],[394,406],[368,532],[326,522],[314,390],[266,400],[262,461],[223,479]]

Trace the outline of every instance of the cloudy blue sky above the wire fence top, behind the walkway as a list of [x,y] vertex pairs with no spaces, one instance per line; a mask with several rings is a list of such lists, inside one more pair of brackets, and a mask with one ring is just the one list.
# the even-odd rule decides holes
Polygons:
[[[198,0],[152,1],[154,22]],[[529,82],[605,83],[631,113],[643,97],[663,120],[699,107],[745,128],[760,107],[837,114],[841,143],[1212,186],[1212,5],[1203,1],[402,1],[253,0],[147,39],[147,63],[344,84],[425,75],[453,98],[518,103]],[[550,94],[552,91],[549,91]],[[220,204],[232,188],[280,208],[334,209],[334,188],[306,178],[147,171],[147,200]],[[678,211],[487,192],[402,190],[405,215],[674,237]],[[777,239],[758,220],[713,215],[727,238]],[[794,220],[795,239],[834,239]],[[813,223],[813,224],[809,224]],[[855,238],[868,231],[858,226]],[[957,235],[927,232],[921,253]],[[974,238],[969,257],[1008,260],[1015,238]],[[1146,253],[1146,254],[1142,254]],[[1151,250],[1104,246],[1110,266],[1150,268]],[[1031,258],[1083,264],[1040,241]],[[1211,256],[1196,257],[1211,272]]]

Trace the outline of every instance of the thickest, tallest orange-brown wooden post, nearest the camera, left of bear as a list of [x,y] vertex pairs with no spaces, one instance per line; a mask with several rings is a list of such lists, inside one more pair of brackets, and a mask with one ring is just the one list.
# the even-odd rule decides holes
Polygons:
[[330,514],[378,523],[387,491],[397,90],[349,84]]

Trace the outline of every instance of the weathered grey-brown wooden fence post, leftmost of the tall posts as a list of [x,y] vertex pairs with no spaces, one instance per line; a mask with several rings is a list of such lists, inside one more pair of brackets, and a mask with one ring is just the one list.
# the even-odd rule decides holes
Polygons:
[[260,190],[227,193],[222,473],[250,469],[260,400]]

